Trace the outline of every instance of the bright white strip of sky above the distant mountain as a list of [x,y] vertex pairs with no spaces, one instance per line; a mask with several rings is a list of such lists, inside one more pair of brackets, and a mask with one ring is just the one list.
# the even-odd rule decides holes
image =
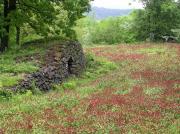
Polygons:
[[[111,9],[139,9],[142,4],[138,0],[94,0],[92,6],[111,8]],[[131,5],[129,4],[131,3]]]

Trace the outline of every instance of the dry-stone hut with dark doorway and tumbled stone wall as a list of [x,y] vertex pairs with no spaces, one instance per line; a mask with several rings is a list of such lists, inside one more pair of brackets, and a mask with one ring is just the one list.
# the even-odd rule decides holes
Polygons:
[[44,63],[38,72],[30,74],[20,83],[22,90],[33,86],[48,91],[54,83],[62,83],[71,75],[79,75],[85,68],[85,56],[80,43],[65,42],[48,50]]

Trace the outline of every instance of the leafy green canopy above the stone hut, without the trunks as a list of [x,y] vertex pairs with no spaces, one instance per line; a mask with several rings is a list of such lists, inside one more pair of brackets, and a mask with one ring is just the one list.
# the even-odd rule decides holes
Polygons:
[[12,0],[16,2],[16,9],[8,14],[8,18],[3,17],[5,1],[0,0],[1,35],[5,31],[4,25],[10,25],[31,27],[43,36],[59,35],[62,32],[68,36],[76,20],[90,10],[91,0]]

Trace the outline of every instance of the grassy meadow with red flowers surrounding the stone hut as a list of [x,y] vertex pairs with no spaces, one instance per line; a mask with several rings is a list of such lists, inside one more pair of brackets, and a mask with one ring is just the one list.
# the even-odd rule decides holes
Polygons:
[[[132,51],[131,46],[118,47],[112,46],[109,49],[108,46],[107,51],[117,55]],[[142,53],[147,54],[148,60],[140,59],[136,62],[113,62],[105,57],[87,54],[87,66],[82,75],[71,77],[61,85],[53,85],[53,90],[48,93],[39,93],[35,89],[14,95],[8,90],[0,90],[0,129],[5,128],[7,133],[58,133],[61,128],[66,128],[65,132],[74,129],[77,133],[97,134],[179,133],[179,115],[174,107],[179,104],[179,99],[174,96],[179,84],[172,85],[174,92],[166,97],[161,88],[161,82],[163,84],[167,80],[177,80],[179,75],[154,76],[147,73],[147,78],[132,77],[133,72],[179,72],[180,62],[175,51],[171,49],[164,53],[161,48],[167,49],[163,46],[156,48],[155,45],[143,48]],[[135,49],[132,52],[137,51],[139,50]],[[31,54],[34,52],[37,51],[30,50]],[[19,55],[23,54],[16,56]],[[4,58],[0,59],[6,66],[1,71],[0,88],[15,85],[23,78],[24,73],[36,71],[33,67],[38,69],[33,61],[22,63],[22,66],[14,62],[16,56],[4,54]],[[26,63],[33,67],[26,70]],[[16,68],[11,69],[9,65],[13,64]],[[157,87],[146,86],[154,81],[160,81],[160,84],[157,83]],[[158,98],[153,98],[154,96]],[[157,103],[156,99],[159,99]],[[154,100],[153,104],[151,100]],[[166,106],[166,101],[170,102],[169,105],[172,103],[173,107]],[[32,122],[32,129],[28,128],[28,122]]]

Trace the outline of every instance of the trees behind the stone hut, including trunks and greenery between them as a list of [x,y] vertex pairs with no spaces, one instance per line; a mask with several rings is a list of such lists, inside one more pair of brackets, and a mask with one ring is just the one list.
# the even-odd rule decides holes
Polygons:
[[15,39],[33,36],[75,38],[72,27],[90,10],[91,0],[0,0],[0,51]]

